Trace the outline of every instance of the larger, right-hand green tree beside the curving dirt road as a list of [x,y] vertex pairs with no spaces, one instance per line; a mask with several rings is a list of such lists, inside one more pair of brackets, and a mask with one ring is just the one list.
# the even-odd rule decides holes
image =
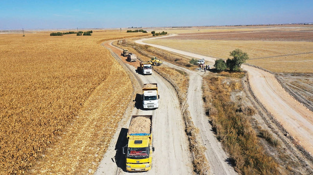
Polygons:
[[231,71],[241,71],[241,65],[249,59],[248,54],[240,49],[235,49],[230,52],[230,56],[233,58],[228,58],[226,65]]

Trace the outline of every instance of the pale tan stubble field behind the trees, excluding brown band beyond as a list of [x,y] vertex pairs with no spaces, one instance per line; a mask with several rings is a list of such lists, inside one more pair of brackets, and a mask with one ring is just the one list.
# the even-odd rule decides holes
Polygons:
[[313,52],[313,42],[182,39],[153,39],[146,42],[225,59],[229,58],[231,51],[240,48],[249,55],[249,64],[273,72],[313,73],[313,53],[303,54]]

